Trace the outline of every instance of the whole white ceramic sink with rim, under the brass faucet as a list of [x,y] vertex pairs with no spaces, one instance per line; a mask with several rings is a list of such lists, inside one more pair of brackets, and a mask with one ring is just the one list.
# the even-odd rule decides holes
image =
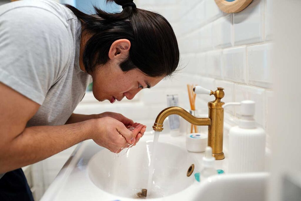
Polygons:
[[[41,200],[134,200],[138,191],[147,188],[153,137],[152,133],[146,132],[135,147],[114,161],[114,165],[114,153],[93,140],[82,142]],[[264,200],[268,174],[227,174],[226,149],[226,158],[215,162],[215,168],[225,170],[226,174],[210,177],[202,183],[195,182],[194,173],[200,171],[203,155],[186,150],[184,135],[171,137],[162,132],[155,163],[155,200]],[[187,169],[192,163],[195,171],[187,177]]]

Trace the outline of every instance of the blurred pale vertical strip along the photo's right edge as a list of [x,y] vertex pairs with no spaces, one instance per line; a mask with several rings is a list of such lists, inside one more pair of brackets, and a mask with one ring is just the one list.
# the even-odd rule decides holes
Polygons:
[[273,125],[272,177],[269,201],[301,199],[301,107],[299,100],[301,55],[301,1],[274,1],[275,48],[273,78],[275,97],[268,122]]

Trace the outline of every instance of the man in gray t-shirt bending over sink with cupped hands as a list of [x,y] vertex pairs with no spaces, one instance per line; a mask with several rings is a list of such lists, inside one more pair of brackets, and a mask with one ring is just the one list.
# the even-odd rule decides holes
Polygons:
[[87,139],[117,152],[144,134],[118,113],[73,113],[92,81],[94,97],[114,103],[177,71],[177,40],[163,16],[132,0],[107,2],[123,10],[88,15],[46,0],[0,6],[0,200],[33,200],[23,166]]

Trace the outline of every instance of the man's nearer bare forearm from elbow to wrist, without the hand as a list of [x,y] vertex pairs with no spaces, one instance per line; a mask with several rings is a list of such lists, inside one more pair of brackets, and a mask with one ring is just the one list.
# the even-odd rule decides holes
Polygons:
[[0,150],[0,173],[46,159],[83,140],[91,138],[94,122],[83,121],[61,126],[34,126]]

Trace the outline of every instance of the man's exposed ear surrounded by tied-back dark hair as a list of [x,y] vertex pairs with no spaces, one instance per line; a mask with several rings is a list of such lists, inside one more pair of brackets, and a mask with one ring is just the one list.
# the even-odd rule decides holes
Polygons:
[[131,42],[128,39],[119,39],[112,43],[109,50],[109,58],[124,59],[129,56]]

